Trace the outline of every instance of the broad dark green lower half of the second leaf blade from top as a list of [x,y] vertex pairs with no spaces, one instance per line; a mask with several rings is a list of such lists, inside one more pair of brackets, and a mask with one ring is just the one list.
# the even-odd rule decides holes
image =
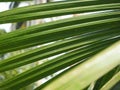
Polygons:
[[[86,32],[96,31],[109,25],[118,25],[120,18],[111,18],[105,20],[98,20],[83,24],[76,24],[73,26],[52,29],[35,34],[28,34],[24,36],[14,37],[7,40],[0,41],[1,53],[19,50],[30,46],[44,44],[55,40],[68,38],[75,35],[85,34]],[[92,27],[91,27],[92,26]],[[31,42],[32,40],[32,42]]]

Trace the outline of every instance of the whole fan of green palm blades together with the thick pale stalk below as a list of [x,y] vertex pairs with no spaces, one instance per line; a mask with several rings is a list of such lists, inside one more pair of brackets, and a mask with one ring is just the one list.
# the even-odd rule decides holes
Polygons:
[[[94,81],[96,81],[95,89],[96,86],[99,86],[99,89],[114,86],[118,82],[116,78],[119,74],[114,71],[120,64],[119,10],[118,0],[74,0],[1,12],[1,24],[78,13],[80,16],[1,35],[0,54],[36,45],[43,46],[0,61],[0,72],[55,55],[57,57],[5,80],[0,83],[0,90],[18,90],[74,65],[36,90],[83,90]],[[117,43],[112,45],[115,42]],[[109,47],[110,45],[112,46]],[[109,72],[112,73],[110,77]],[[100,85],[97,84],[97,80],[101,82]]]

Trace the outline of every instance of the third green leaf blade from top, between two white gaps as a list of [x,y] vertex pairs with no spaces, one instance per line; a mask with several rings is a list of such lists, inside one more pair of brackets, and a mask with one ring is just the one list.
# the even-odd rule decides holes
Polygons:
[[[118,29],[118,30],[117,30]],[[52,55],[57,55],[60,53],[65,53],[66,51],[95,43],[98,40],[114,38],[118,36],[119,39],[119,27],[115,28],[104,28],[98,32],[91,32],[88,35],[79,36],[77,38],[71,38],[67,40],[61,40],[56,43],[51,44],[50,46],[40,47],[31,52],[23,53],[21,55],[12,57],[0,63],[0,72],[4,70],[9,70],[15,67],[19,67],[25,64],[29,64]],[[101,37],[102,36],[102,37]],[[64,46],[64,47],[63,47]],[[19,60],[19,61],[18,61]]]

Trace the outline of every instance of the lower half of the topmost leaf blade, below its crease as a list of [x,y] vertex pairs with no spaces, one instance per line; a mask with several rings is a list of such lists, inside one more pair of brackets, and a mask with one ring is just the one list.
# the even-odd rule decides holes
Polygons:
[[[99,2],[99,1],[97,1]],[[115,1],[114,1],[115,2]],[[119,1],[120,2],[120,1]],[[74,14],[74,13],[85,13],[85,12],[91,12],[91,11],[100,11],[100,10],[111,10],[111,9],[119,9],[120,8],[120,3],[116,1],[115,3],[108,2],[108,4],[102,4],[101,2],[98,3],[98,5],[93,5],[89,2],[87,5],[83,6],[71,6],[71,7],[65,7],[65,8],[60,8],[60,9],[50,9],[50,10],[44,10],[44,11],[38,11],[38,12],[27,12],[21,13],[18,15],[14,15],[16,11],[12,11],[9,13],[12,13],[12,15],[7,15],[7,17],[0,18],[0,23],[9,23],[9,22],[18,22],[18,21],[26,21],[26,20],[32,20],[32,19],[38,19],[38,18],[48,18],[48,17],[54,17],[54,16],[60,16],[60,15],[67,15],[67,14]],[[73,2],[74,3],[74,2]],[[81,2],[82,3],[82,2]],[[70,4],[69,4],[70,5]],[[42,7],[44,9],[44,7]],[[31,10],[31,8],[30,8]],[[18,12],[19,13],[19,12]],[[2,16],[3,16],[2,15]]]

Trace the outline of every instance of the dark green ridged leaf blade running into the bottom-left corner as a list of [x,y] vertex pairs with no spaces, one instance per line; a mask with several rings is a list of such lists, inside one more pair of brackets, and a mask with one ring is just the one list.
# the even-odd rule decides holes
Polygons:
[[4,82],[3,84],[1,84],[1,89],[2,88],[13,90],[19,89],[23,86],[33,83],[34,81],[46,77],[47,75],[55,73],[58,70],[64,69],[69,65],[78,62],[79,60],[83,60],[87,57],[90,57],[91,55],[94,55],[101,49],[104,49],[106,45],[108,46],[110,45],[110,43],[113,43],[114,41],[115,41],[114,39],[108,41],[105,40],[103,42],[100,41],[100,43],[103,44],[100,43],[91,44],[90,46],[83,47],[83,49],[80,48],[78,50],[75,50],[74,52],[70,52],[71,54],[68,53],[62,57],[56,58],[55,60],[50,60],[45,64],[39,65],[33,68],[32,70],[29,70],[28,72],[22,73],[14,77],[13,79]]

